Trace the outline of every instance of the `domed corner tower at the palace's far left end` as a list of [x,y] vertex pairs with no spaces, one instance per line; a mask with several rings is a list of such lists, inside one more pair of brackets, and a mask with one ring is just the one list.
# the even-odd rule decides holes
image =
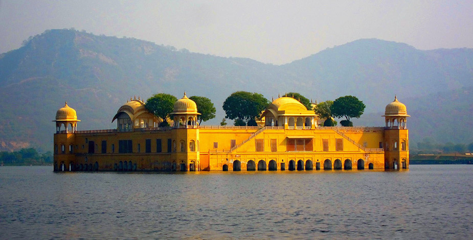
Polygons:
[[[77,131],[76,110],[67,106],[56,112],[56,134],[54,134],[54,171],[74,170],[74,133]],[[64,129],[64,130],[62,130]]]

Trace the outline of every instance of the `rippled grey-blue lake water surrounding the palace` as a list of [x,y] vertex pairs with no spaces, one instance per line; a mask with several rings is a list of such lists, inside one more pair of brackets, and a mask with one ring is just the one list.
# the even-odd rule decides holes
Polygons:
[[471,239],[473,165],[53,173],[0,167],[2,239]]

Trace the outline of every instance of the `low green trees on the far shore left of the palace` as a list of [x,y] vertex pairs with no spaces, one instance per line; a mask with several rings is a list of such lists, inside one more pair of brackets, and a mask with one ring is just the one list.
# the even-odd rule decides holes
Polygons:
[[38,153],[34,148],[23,148],[16,152],[0,152],[1,165],[48,165],[53,162],[53,153]]

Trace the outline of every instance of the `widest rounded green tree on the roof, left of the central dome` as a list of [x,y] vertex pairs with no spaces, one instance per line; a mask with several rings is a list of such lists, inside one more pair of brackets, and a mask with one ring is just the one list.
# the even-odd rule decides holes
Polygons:
[[226,118],[248,122],[258,117],[268,104],[269,101],[260,93],[237,91],[223,102],[223,110]]

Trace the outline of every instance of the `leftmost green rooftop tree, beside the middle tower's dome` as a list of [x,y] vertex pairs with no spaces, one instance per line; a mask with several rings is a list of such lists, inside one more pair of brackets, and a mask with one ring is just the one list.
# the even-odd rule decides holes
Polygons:
[[169,113],[172,112],[174,103],[177,101],[177,98],[171,94],[167,93],[157,93],[151,96],[146,100],[146,109],[152,112],[154,115],[161,117],[163,122],[160,124],[160,127],[169,126],[166,117]]

